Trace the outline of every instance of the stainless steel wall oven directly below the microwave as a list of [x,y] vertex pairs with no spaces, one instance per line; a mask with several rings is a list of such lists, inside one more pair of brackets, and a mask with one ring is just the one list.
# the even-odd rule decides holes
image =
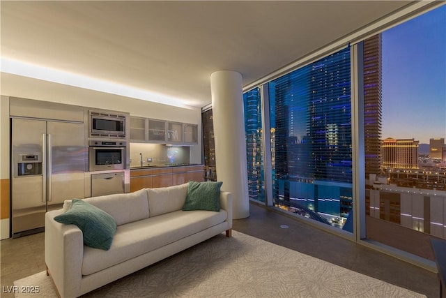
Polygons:
[[89,141],[89,171],[125,170],[126,142]]

